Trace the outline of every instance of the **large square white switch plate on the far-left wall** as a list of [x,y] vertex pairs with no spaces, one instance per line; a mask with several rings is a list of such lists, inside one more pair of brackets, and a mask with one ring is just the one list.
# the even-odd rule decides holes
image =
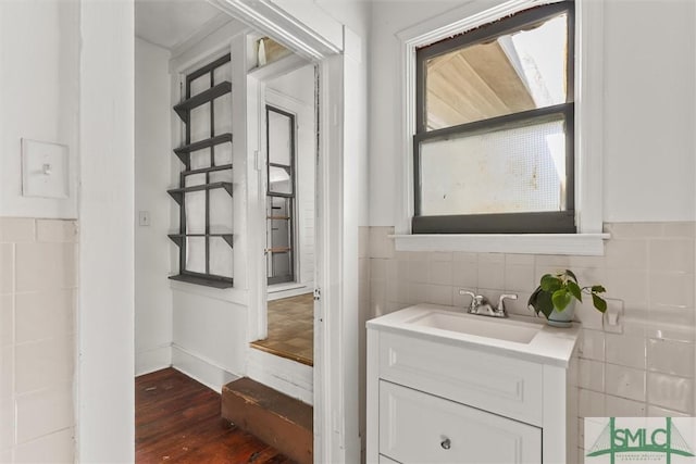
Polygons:
[[22,139],[22,195],[70,197],[69,150],[60,143]]

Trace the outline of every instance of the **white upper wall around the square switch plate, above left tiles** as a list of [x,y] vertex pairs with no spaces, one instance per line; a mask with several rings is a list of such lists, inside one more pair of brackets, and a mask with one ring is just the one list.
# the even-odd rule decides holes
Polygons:
[[[1,7],[0,216],[77,217],[79,4],[3,1]],[[21,138],[69,147],[69,199],[22,197]]]

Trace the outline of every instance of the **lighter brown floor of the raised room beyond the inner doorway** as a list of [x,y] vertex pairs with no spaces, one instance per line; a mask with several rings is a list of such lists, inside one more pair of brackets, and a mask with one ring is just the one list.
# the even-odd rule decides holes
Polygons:
[[314,365],[312,293],[269,301],[269,337],[251,346],[308,366]]

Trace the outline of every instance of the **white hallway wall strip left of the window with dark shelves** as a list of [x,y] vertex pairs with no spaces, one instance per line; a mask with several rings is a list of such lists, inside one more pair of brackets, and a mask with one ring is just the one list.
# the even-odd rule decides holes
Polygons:
[[135,372],[172,364],[170,165],[170,52],[135,41],[135,210],[149,226],[135,226]]

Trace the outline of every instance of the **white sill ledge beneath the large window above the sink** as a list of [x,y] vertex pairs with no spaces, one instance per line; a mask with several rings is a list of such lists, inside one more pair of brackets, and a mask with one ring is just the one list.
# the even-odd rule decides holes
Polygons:
[[470,251],[601,256],[609,234],[390,235],[397,251]]

